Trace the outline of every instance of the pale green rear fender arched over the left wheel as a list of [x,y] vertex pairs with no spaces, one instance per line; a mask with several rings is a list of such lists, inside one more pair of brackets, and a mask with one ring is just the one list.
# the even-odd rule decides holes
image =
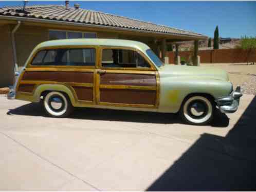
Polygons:
[[44,91],[60,91],[64,92],[68,95],[70,102],[72,105],[75,105],[75,91],[72,89],[70,86],[64,86],[63,84],[41,84],[40,86],[36,87],[33,97],[34,97],[34,102],[39,102],[41,94]]

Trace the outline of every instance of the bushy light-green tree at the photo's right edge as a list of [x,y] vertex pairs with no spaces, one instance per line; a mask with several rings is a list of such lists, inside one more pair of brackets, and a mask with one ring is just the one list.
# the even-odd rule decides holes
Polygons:
[[[253,49],[256,49],[256,36],[255,37],[247,37],[246,35],[241,37],[241,48],[243,50],[247,50],[246,62],[248,65],[250,55],[252,54]],[[254,65],[254,60],[251,61]]]

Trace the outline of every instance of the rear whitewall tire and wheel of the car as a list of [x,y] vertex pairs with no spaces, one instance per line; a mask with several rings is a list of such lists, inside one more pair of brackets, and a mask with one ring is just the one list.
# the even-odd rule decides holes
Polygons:
[[73,109],[69,99],[61,92],[49,92],[43,100],[46,113],[51,117],[66,117]]

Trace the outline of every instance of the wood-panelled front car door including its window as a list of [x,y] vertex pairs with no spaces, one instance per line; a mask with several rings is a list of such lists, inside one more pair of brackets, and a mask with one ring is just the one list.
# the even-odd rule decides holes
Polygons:
[[140,51],[101,47],[96,100],[99,105],[157,108],[159,77],[154,65]]

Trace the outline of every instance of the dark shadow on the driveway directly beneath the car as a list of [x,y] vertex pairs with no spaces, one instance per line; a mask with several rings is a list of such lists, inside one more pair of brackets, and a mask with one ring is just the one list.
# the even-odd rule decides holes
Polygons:
[[[45,114],[41,103],[28,103],[15,109],[9,109],[8,115],[25,115],[25,116],[44,116]],[[142,122],[142,123],[183,123],[178,114],[174,113],[156,113],[156,112],[139,112],[125,110],[108,110],[96,108],[76,108],[74,113],[67,118],[88,119],[88,120],[108,120],[108,121],[125,121],[125,122]],[[227,127],[229,118],[226,114],[216,111],[211,126]]]

